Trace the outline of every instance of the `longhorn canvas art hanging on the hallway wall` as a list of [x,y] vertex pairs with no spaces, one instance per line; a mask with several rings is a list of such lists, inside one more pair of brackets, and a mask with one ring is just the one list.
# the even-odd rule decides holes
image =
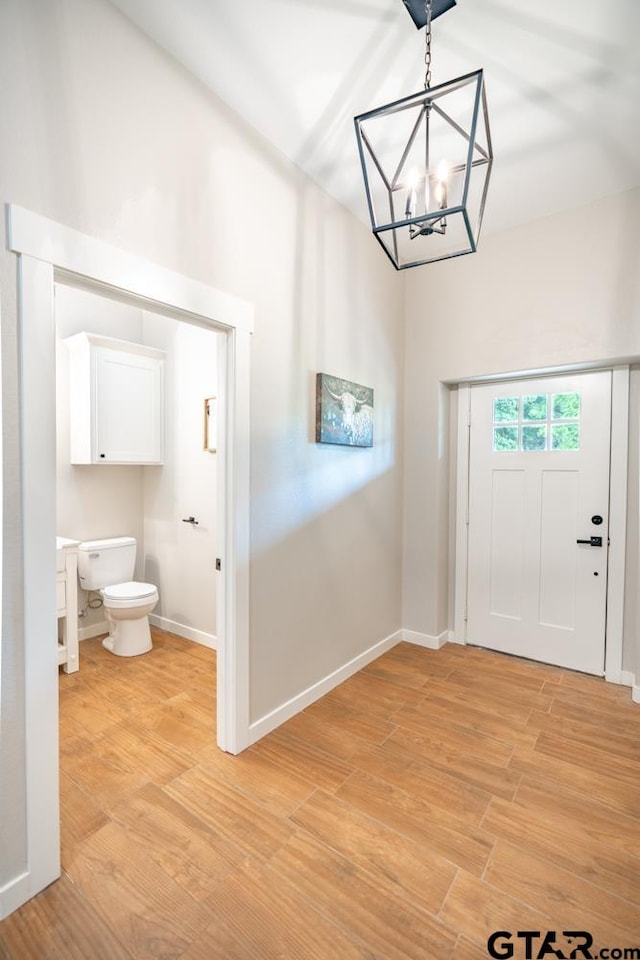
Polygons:
[[316,442],[372,447],[372,388],[319,373],[316,377]]

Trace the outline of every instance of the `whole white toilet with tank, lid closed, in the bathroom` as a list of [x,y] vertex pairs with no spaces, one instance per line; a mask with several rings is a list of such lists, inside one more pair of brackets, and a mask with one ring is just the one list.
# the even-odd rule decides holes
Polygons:
[[119,657],[137,657],[153,645],[149,614],[158,602],[158,588],[132,580],[135,561],[133,537],[86,540],[78,546],[80,586],[102,596],[109,623],[102,643]]

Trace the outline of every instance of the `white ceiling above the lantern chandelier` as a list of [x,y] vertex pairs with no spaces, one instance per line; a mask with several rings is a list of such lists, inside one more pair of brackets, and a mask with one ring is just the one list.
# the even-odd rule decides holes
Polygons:
[[[367,220],[353,117],[424,81],[402,0],[112,2]],[[640,184],[639,36],[640,0],[458,0],[434,21],[433,84],[485,70],[485,232]]]

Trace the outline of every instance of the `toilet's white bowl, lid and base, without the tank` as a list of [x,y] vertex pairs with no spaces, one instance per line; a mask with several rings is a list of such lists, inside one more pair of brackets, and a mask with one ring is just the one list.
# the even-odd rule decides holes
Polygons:
[[148,653],[153,646],[149,614],[158,602],[157,587],[130,580],[104,587],[100,593],[109,624],[103,647],[118,657]]

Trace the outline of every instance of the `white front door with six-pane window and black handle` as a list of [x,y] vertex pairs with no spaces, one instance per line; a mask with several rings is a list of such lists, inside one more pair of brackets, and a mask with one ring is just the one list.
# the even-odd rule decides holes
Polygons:
[[611,373],[471,388],[467,642],[604,673]]

